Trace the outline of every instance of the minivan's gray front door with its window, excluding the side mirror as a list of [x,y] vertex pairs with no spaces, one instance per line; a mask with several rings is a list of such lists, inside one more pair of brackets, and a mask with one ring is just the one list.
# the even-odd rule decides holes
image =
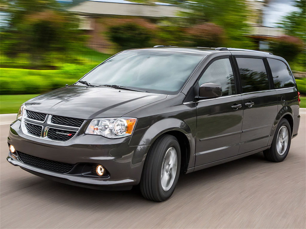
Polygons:
[[198,83],[221,85],[222,96],[196,102],[196,166],[238,154],[243,115],[229,57],[213,61]]

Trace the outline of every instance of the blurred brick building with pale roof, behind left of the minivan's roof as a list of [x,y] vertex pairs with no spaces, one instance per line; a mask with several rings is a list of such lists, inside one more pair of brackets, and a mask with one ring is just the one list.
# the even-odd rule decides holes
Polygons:
[[122,22],[137,22],[149,29],[155,29],[159,18],[178,17],[182,11],[172,4],[155,2],[145,5],[125,0],[88,0],[72,7],[69,11],[80,17],[80,29],[88,30],[88,46],[104,53],[112,53],[112,44],[106,38],[107,27]]

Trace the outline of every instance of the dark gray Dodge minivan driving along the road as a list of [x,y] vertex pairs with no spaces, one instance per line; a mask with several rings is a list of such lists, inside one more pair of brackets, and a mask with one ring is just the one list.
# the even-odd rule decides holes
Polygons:
[[260,151],[283,161],[298,132],[299,101],[288,63],[271,53],[126,50],[22,104],[7,160],[81,187],[138,185],[145,198],[164,201],[180,173]]

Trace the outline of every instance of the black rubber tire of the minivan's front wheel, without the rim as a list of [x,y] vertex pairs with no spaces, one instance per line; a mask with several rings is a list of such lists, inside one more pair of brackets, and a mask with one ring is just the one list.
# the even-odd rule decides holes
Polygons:
[[[166,151],[174,147],[177,152],[177,171],[174,182],[168,191],[164,191],[161,183],[162,162]],[[181,168],[181,150],[177,139],[168,134],[160,136],[147,155],[140,180],[140,191],[144,198],[162,202],[168,199],[174,192]]]

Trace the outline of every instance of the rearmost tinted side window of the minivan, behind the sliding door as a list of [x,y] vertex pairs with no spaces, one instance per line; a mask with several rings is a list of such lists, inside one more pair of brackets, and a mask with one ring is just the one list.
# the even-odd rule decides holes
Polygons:
[[275,89],[294,87],[295,84],[287,65],[281,60],[275,60],[271,58],[267,59],[272,71]]

